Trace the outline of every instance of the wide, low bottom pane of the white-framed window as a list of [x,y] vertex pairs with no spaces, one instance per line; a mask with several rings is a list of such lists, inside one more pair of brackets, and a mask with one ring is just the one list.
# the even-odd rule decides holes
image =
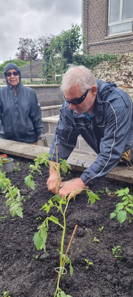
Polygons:
[[121,32],[132,31],[132,22],[109,26],[108,34],[119,34]]

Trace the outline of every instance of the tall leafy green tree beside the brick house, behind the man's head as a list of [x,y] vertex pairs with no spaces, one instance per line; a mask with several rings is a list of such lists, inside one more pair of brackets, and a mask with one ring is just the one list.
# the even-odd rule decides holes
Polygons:
[[67,64],[73,63],[74,53],[79,51],[84,38],[81,25],[71,25],[71,29],[62,31],[51,38],[50,44],[43,50],[42,75],[47,83],[55,80],[55,74],[62,75],[67,70]]

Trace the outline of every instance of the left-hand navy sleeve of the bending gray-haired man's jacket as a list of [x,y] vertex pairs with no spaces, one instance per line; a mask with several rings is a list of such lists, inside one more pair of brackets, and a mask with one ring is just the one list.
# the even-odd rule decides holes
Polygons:
[[64,102],[60,108],[59,121],[50,146],[50,155],[52,161],[56,161],[56,147],[58,151],[58,162],[61,159],[68,159],[77,143],[79,133],[74,128],[72,111],[69,105]]

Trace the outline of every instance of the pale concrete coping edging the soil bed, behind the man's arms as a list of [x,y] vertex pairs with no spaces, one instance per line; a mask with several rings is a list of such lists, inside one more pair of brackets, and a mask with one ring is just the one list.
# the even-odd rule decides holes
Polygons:
[[[43,151],[49,152],[49,148],[44,146],[35,146],[32,144],[0,139],[0,151],[6,154],[12,154],[14,156],[20,156],[28,159],[35,159]],[[68,158],[68,163],[72,169],[83,171],[88,168],[96,157],[87,156],[84,154],[72,153]],[[116,179],[119,181],[125,181],[133,183],[133,170],[128,169],[126,165],[118,165],[106,176],[108,178]]]

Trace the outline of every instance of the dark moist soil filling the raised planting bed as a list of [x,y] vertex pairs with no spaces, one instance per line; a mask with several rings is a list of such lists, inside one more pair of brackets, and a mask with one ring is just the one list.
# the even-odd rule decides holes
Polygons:
[[[10,157],[8,155],[8,157]],[[38,225],[51,214],[62,222],[61,214],[55,208],[47,215],[39,209],[52,197],[48,191],[46,181],[48,169],[42,166],[43,178],[35,173],[35,182],[38,185],[35,191],[28,189],[24,184],[24,178],[29,173],[28,163],[33,161],[20,157],[14,158],[14,166],[20,162],[21,171],[7,173],[12,185],[20,189],[21,195],[26,200],[23,203],[23,219],[9,214],[9,208],[5,208],[6,198],[0,193],[0,297],[4,291],[9,291],[11,297],[53,297],[56,286],[57,273],[55,267],[59,267],[59,252],[62,230],[58,225],[49,223],[46,250],[37,251],[34,246],[33,236]],[[63,180],[80,176],[80,173],[68,173]],[[111,181],[105,178],[99,185],[92,187],[95,193],[108,187],[112,192],[116,189],[129,187],[133,194],[132,185],[122,184],[119,181]],[[61,278],[60,288],[73,297],[132,297],[133,296],[133,222],[126,228],[126,223],[120,224],[115,218],[110,220],[110,213],[115,210],[119,198],[100,194],[100,201],[87,204],[88,198],[85,192],[78,195],[75,201],[72,199],[66,214],[66,236],[64,253],[72,236],[75,225],[78,225],[68,257],[74,268],[73,276]],[[29,199],[30,198],[30,199]],[[102,232],[98,229],[104,226]],[[93,238],[99,239],[94,242]],[[121,246],[120,259],[112,254],[112,248]],[[38,259],[35,259],[38,255]],[[33,260],[32,260],[33,259]],[[94,265],[86,269],[84,259],[89,259]]]

